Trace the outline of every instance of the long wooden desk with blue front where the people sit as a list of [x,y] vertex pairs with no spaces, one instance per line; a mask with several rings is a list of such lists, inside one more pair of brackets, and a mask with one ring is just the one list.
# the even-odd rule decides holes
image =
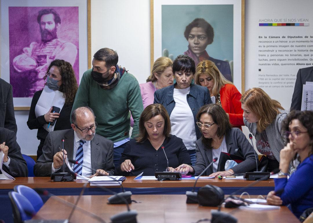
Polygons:
[[[86,180],[75,180],[73,182],[53,182],[50,177],[17,177],[16,180],[0,180],[0,216],[5,222],[13,222],[12,208],[8,197],[8,192],[12,191],[15,185],[25,185],[31,188],[45,188],[54,195],[79,195],[85,185]],[[127,191],[135,194],[185,194],[192,190],[195,180],[177,180],[177,181],[158,181],[158,180],[134,180],[134,177],[127,177],[122,185]],[[197,188],[207,184],[221,187],[224,194],[231,194],[240,188],[251,184],[247,180],[218,180],[199,179]],[[84,195],[108,195],[110,193],[97,187],[86,185]],[[110,187],[115,192],[121,192],[119,186]],[[254,187],[246,188],[250,195],[267,195],[269,191],[274,190],[274,180],[259,181]],[[47,198],[43,198],[44,201]]]

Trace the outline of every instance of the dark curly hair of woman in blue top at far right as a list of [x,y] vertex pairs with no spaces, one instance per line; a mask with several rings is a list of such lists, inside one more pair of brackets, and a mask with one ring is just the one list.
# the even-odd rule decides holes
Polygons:
[[[291,111],[283,120],[282,133],[290,131],[289,124],[292,120],[298,119],[300,123],[308,130],[310,140],[313,141],[313,111]],[[289,138],[285,138],[285,144],[289,143]],[[311,151],[309,155],[313,154],[313,144],[311,144]]]

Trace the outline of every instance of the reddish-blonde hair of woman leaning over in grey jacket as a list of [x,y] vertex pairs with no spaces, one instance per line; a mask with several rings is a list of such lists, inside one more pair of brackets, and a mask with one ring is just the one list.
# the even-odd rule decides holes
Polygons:
[[271,124],[284,108],[280,103],[271,99],[264,90],[252,88],[247,90],[241,97],[240,102],[247,106],[259,119],[257,130],[262,132]]

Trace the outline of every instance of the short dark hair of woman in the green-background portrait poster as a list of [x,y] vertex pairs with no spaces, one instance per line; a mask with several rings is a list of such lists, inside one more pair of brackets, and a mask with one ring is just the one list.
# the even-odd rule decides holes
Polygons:
[[208,36],[208,44],[213,43],[213,38],[214,38],[214,30],[213,27],[211,26],[210,23],[208,23],[207,21],[205,21],[205,19],[203,18],[196,18],[194,19],[191,23],[189,23],[186,26],[185,32],[184,32],[184,36],[185,38],[188,40],[190,31],[192,28],[197,27],[197,28],[203,28],[204,32],[207,34]]

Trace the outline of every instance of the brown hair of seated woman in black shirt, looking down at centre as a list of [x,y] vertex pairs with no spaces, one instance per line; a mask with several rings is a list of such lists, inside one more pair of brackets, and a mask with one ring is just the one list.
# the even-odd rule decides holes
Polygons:
[[156,115],[161,115],[164,119],[163,135],[169,137],[171,134],[171,121],[168,116],[167,110],[162,104],[150,104],[148,105],[140,115],[139,119],[139,135],[136,137],[136,142],[143,142],[148,138],[148,133],[145,128],[145,122],[153,118]]

